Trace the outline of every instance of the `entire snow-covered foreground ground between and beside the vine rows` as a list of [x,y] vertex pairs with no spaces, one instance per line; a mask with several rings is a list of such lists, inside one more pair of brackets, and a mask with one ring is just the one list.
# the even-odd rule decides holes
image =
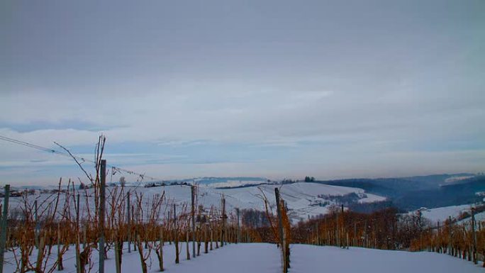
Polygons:
[[[71,247],[65,255],[65,269],[62,272],[75,272],[73,250],[74,247]],[[208,254],[201,252],[201,256],[191,260],[186,260],[185,244],[182,244],[181,250],[180,264],[175,264],[174,245],[165,245],[165,272],[281,272],[280,253],[277,247],[272,244],[226,245],[218,250],[210,251]],[[97,272],[97,257],[98,252],[94,250],[94,267],[91,269],[91,272]],[[109,260],[105,261],[105,272],[115,273],[113,252],[110,252],[108,257]],[[34,259],[35,255],[32,257],[32,260]],[[12,253],[7,252],[4,272],[13,272],[15,270],[12,262]],[[150,260],[148,264],[150,265]],[[158,262],[155,253],[152,253],[151,265],[148,268],[148,272],[158,272]],[[141,272],[138,252],[127,253],[125,247],[121,272]],[[474,273],[484,272],[484,269],[481,267],[481,264],[475,265],[472,262],[433,252],[371,250],[358,247],[342,250],[338,247],[291,245],[291,269],[289,269],[289,272]]]

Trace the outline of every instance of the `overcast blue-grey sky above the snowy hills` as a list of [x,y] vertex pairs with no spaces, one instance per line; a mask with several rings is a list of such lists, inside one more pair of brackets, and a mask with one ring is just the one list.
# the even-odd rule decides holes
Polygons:
[[[108,164],[160,179],[483,172],[484,14],[482,0],[2,1],[0,135],[92,159],[103,133]],[[67,157],[1,140],[0,155],[0,184],[84,179]]]

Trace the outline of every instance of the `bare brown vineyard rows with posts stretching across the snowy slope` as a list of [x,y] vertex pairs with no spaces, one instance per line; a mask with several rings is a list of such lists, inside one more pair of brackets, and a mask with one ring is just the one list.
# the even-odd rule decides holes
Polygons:
[[[7,272],[5,267],[19,273],[121,273],[127,259],[130,272],[162,272],[167,264],[172,270],[183,260],[226,248],[251,252],[247,246],[254,245],[274,252],[261,243],[277,246],[280,259],[273,265],[283,273],[293,269],[294,254],[297,266],[305,259],[297,245],[334,246],[342,253],[350,247],[437,252],[470,264],[484,260],[485,230],[474,221],[474,210],[471,223],[450,218],[433,226],[419,212],[401,214],[386,208],[366,214],[333,205],[329,213],[295,224],[290,217],[294,211],[280,194],[284,185],[275,186],[271,195],[260,191],[260,211],[229,211],[223,194],[218,204],[204,206],[196,184],[155,186],[150,194],[143,186],[106,186],[103,150],[100,138],[96,174],[83,169],[89,184],[60,179],[57,189],[43,192],[42,198],[29,190],[10,196],[5,186],[0,272]],[[189,189],[190,202],[167,196],[169,187]],[[237,250],[228,247],[241,244],[244,247]]]

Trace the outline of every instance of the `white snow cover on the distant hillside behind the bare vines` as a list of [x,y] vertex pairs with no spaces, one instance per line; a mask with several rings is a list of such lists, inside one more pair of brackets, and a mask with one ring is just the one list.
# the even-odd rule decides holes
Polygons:
[[[319,214],[325,214],[328,212],[328,205],[333,204],[333,201],[325,199],[323,196],[342,196],[345,194],[355,193],[362,198],[359,200],[361,203],[369,203],[374,201],[385,200],[382,196],[374,194],[366,194],[363,189],[351,188],[347,186],[330,186],[318,183],[298,182],[294,184],[274,185],[264,184],[259,186],[247,186],[233,189],[215,189],[213,186],[200,185],[198,191],[197,202],[203,205],[205,208],[215,206],[220,208],[221,196],[225,196],[226,209],[228,212],[233,212],[235,208],[254,208],[257,210],[264,210],[263,196],[266,196],[270,205],[275,206],[274,188],[281,187],[281,198],[286,201],[289,208],[289,213],[292,221],[299,221],[311,216],[318,216]],[[107,188],[107,196],[109,192],[115,189],[115,187]],[[126,191],[135,190],[138,193],[143,193],[145,200],[151,199],[155,194],[162,194],[165,191],[165,197],[169,204],[175,202],[177,204],[189,204],[191,189],[190,186],[175,185],[175,186],[156,186],[151,188],[145,187],[126,187]],[[91,194],[91,190],[88,191]],[[84,191],[81,191],[84,195]],[[41,194],[29,196],[29,199],[39,199],[38,204],[43,204],[43,200],[48,198],[52,199],[55,196],[50,194]],[[61,195],[60,204],[63,204],[64,196]],[[134,201],[135,194],[131,194],[131,199]],[[11,198],[11,208],[20,206],[22,199],[19,197]],[[1,201],[1,199],[0,199]],[[81,199],[81,208],[84,207],[85,199]],[[47,204],[47,203],[45,203]],[[94,201],[89,201],[89,204],[94,205]],[[134,204],[134,202],[132,202]],[[327,206],[323,206],[327,204]],[[74,206],[72,206],[74,208]],[[93,209],[93,208],[91,208]],[[109,209],[109,208],[108,208]],[[163,209],[162,209],[163,211]]]

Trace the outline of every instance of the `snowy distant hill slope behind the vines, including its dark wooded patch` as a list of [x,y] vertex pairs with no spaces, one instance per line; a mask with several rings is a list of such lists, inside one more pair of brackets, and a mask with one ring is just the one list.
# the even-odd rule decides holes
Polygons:
[[[197,189],[197,202],[203,206],[204,209],[211,209],[211,207],[219,208],[221,206],[221,197],[225,196],[225,208],[229,213],[233,213],[235,208],[241,210],[258,210],[265,211],[263,196],[267,197],[269,208],[276,208],[276,199],[274,196],[274,188],[279,185],[262,184],[259,186],[236,187],[230,189],[218,189],[213,186],[201,185]],[[111,191],[119,190],[116,186],[108,186],[106,188],[106,195],[110,196]],[[135,203],[136,194],[143,194],[145,199],[152,199],[156,194],[165,193],[165,202],[162,204],[162,211],[168,211],[167,206],[172,204],[190,204],[191,202],[191,187],[184,184],[174,184],[166,186],[127,186],[126,191],[132,191],[131,199]],[[51,190],[34,190],[28,192],[27,198],[39,201],[40,209],[47,206],[49,202],[47,199],[54,199],[57,196],[55,193],[57,189]],[[355,204],[369,204],[379,201],[385,201],[386,198],[374,194],[367,194],[362,189],[355,189],[342,186],[329,186],[324,184],[296,182],[291,184],[284,184],[280,187],[281,198],[286,201],[286,206],[289,209],[289,217],[291,221],[305,220],[307,218],[316,217],[320,214],[328,213],[335,206],[340,205],[352,206]],[[79,190],[82,196],[87,194],[87,199],[94,198],[94,189]],[[65,194],[60,195],[61,204],[64,202]],[[81,206],[85,206],[87,199],[80,199]],[[1,204],[0,194],[0,204]],[[20,196],[12,196],[10,199],[11,209],[15,210],[23,205],[23,198]],[[94,201],[89,202],[90,209],[94,209]],[[109,211],[109,206],[106,208]]]

